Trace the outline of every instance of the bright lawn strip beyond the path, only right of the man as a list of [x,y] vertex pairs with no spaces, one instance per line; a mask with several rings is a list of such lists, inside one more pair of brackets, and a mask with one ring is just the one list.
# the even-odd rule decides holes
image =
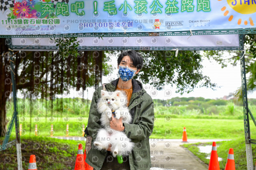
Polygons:
[[[252,121],[250,124],[254,126]],[[188,139],[236,139],[244,136],[244,121],[235,119],[172,119],[164,122],[159,118],[154,125],[152,138],[182,138],[183,127],[186,127]],[[167,128],[172,130],[170,135],[164,135]],[[255,130],[251,132],[256,136]]]

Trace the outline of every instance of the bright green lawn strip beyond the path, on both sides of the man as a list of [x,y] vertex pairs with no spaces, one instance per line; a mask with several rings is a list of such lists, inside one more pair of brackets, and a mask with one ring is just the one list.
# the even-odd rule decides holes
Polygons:
[[[54,122],[48,122],[44,117],[40,118],[40,122],[36,123],[32,119],[32,131],[30,132],[29,117],[22,124],[22,135],[34,136],[34,125],[38,125],[38,135],[45,137],[50,135],[51,124],[54,125],[54,136],[66,135],[66,124],[69,125],[69,136],[82,136],[82,124],[87,125],[87,117],[84,121],[79,121],[76,117],[70,117],[68,121],[64,118],[55,119]],[[250,121],[252,127],[252,138],[256,138],[256,130],[254,124]],[[183,127],[186,127],[188,139],[236,139],[244,136],[244,121],[239,119],[181,119],[172,118],[166,121],[165,118],[157,118],[154,120],[154,130],[150,138],[182,138]],[[15,131],[12,130],[12,135]]]

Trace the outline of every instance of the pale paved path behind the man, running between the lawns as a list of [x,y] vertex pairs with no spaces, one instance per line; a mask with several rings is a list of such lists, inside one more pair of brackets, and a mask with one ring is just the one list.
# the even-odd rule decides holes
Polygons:
[[[59,137],[62,138],[62,137]],[[69,140],[82,140],[84,137],[67,137]],[[188,142],[181,142],[181,139],[150,139],[150,155],[152,168],[150,170],[208,170],[208,165],[202,162],[188,149],[180,145],[196,142],[217,142],[219,139],[188,139]]]

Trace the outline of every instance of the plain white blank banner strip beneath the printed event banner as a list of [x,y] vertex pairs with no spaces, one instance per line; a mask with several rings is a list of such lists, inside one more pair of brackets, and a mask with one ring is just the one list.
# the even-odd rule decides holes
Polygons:
[[[78,38],[80,49],[100,48],[100,49],[134,49],[140,47],[154,47],[159,49],[190,49],[195,47],[239,47],[238,34],[228,35],[198,35],[198,36],[142,36],[142,37],[80,37]],[[23,51],[43,51],[56,49],[56,43],[50,38],[12,38],[12,49]],[[45,46],[45,48],[42,48]],[[41,49],[39,48],[41,47]],[[102,48],[103,47],[103,48]],[[231,48],[230,48],[231,49]]]

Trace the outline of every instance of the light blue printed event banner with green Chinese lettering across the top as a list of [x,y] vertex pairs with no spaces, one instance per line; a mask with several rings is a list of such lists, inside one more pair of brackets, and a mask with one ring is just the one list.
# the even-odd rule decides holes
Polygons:
[[1,0],[1,35],[256,28],[256,0]]

